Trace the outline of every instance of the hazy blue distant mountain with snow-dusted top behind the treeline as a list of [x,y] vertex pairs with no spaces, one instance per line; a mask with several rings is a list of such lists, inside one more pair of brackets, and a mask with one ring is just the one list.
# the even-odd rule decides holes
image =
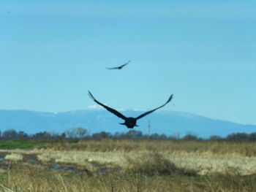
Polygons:
[[[127,110],[122,112],[126,116],[136,117],[142,111]],[[150,134],[196,134],[198,137],[207,138],[213,134],[226,137],[227,134],[256,131],[256,126],[231,123],[224,120],[214,120],[187,112],[159,111],[138,120],[139,127],[135,130],[148,134],[148,120],[151,122]],[[39,131],[55,131],[63,133],[67,128],[83,127],[90,134],[108,131],[114,134],[127,132],[122,123],[124,120],[117,118],[106,110],[78,110],[70,112],[33,112],[26,110],[0,110],[0,130],[14,128],[16,131],[25,131],[34,134]]]

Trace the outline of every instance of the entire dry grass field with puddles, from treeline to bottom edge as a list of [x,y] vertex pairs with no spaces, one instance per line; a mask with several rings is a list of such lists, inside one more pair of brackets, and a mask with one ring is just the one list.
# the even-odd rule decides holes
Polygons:
[[256,191],[256,143],[103,139],[0,150],[0,191]]

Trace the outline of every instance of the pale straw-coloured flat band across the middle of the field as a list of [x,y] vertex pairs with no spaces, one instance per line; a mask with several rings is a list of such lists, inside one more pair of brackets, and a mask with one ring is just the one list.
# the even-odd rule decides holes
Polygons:
[[[37,157],[40,163],[55,162],[57,164],[75,164],[86,167],[90,172],[97,172],[99,165],[107,168],[125,168],[129,159],[145,157],[145,153],[113,153],[58,150],[0,150],[6,153],[4,161],[22,161],[22,155],[30,154]],[[146,155],[151,155],[147,153]],[[192,169],[197,174],[255,174],[256,157],[214,154],[162,154],[176,166]],[[128,157],[128,158],[127,158]]]

